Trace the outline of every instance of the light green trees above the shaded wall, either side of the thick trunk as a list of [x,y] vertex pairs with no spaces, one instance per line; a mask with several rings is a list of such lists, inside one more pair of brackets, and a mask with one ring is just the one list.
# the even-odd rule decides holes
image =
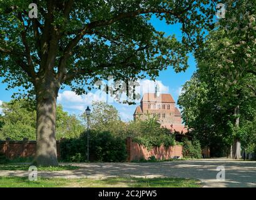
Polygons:
[[[3,103],[3,116],[0,127],[0,139],[11,138],[36,140],[36,108],[34,102],[26,99],[12,100]],[[63,111],[61,105],[56,112],[56,138],[78,138],[84,131],[84,126],[76,116]]]

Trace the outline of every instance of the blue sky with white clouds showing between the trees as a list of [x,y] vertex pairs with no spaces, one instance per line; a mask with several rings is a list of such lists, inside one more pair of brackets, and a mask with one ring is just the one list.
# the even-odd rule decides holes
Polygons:
[[[164,20],[160,21],[155,17],[151,19],[151,24],[153,24],[157,31],[165,32],[166,36],[175,34],[178,40],[182,38],[180,24],[167,25]],[[178,95],[180,94],[180,91],[182,89],[182,85],[191,78],[193,72],[196,69],[195,59],[193,58],[192,54],[190,54],[188,64],[189,68],[187,69],[187,71],[185,71],[185,73],[175,73],[175,71],[170,67],[165,71],[161,71],[158,78],[156,78],[157,81],[160,81],[162,93],[172,94],[173,99],[175,99],[176,102],[178,100]],[[0,78],[0,81],[1,80],[2,79]],[[151,89],[153,89],[155,86],[153,81],[150,81],[149,79],[141,80],[141,85],[144,88],[150,86]],[[0,84],[0,104],[2,101],[10,101],[12,94],[18,91],[18,89],[6,91],[6,86],[6,84]],[[83,113],[84,109],[87,106],[91,106],[92,100],[97,101],[99,99],[101,98],[99,97],[98,91],[95,90],[91,91],[91,93],[89,93],[88,95],[77,96],[76,94],[71,92],[69,88],[65,88],[64,90],[59,91],[58,103],[61,103],[63,105],[64,111],[68,111],[68,113],[70,114],[79,115]],[[136,106],[138,106],[138,103],[131,106],[119,103],[112,104],[118,109],[121,119],[125,121],[133,119],[133,113]]]

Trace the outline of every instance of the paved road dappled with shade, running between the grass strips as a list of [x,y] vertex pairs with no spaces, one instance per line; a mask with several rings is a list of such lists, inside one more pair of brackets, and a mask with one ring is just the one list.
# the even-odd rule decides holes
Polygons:
[[[41,177],[106,178],[134,176],[143,178],[177,177],[200,179],[205,187],[256,187],[256,162],[228,159],[202,159],[162,163],[80,163],[74,171],[39,171]],[[225,181],[217,180],[217,167],[225,167]],[[0,171],[0,176],[28,176],[24,171]]]

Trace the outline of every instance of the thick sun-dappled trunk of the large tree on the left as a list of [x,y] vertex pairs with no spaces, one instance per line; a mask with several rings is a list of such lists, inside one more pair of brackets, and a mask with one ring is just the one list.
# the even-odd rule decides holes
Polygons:
[[58,84],[54,81],[41,83],[36,88],[36,164],[58,165],[56,151],[56,101]]

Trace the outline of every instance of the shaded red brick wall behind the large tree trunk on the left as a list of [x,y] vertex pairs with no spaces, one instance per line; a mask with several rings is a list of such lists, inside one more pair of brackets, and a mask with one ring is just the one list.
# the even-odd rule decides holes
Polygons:
[[[57,156],[60,157],[59,141],[57,141]],[[6,158],[14,159],[17,157],[34,157],[36,154],[36,141],[0,141],[0,153],[5,154]]]

